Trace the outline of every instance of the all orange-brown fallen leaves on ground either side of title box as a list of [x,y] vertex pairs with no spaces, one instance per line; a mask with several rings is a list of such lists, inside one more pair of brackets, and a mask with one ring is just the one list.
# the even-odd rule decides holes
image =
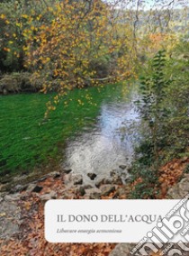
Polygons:
[[[180,160],[172,160],[166,163],[159,171],[160,191],[158,198],[166,198],[166,193],[170,187],[173,187],[182,178],[185,168],[189,163],[188,158]],[[38,187],[42,187],[39,193],[29,192],[27,190],[19,193],[17,204],[20,209],[20,226],[19,233],[14,234],[8,239],[0,240],[1,256],[107,256],[115,247],[115,243],[49,243],[44,238],[44,205],[46,202],[45,195],[50,192],[56,192],[56,198],[64,199],[85,199],[76,193],[76,188],[70,187],[66,189],[64,184],[64,175],[49,176],[37,183]],[[136,180],[130,184],[130,191],[142,179]],[[115,191],[111,192],[107,197],[101,199],[126,199],[129,197],[129,190],[125,190],[125,194],[118,197],[118,186]],[[67,193],[63,192],[67,191]],[[0,213],[0,218],[8,218],[5,213]]]

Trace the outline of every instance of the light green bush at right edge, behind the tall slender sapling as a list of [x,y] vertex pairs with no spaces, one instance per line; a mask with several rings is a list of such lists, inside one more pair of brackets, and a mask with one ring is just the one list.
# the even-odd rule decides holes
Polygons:
[[166,160],[184,157],[189,152],[189,41],[176,45],[172,58],[166,65],[166,76],[173,82],[166,88],[164,105],[170,110],[164,125]]

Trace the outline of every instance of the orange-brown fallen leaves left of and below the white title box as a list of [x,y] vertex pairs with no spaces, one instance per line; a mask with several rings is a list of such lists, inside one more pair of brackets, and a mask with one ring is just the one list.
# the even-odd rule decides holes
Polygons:
[[[65,188],[64,177],[49,177],[38,185],[43,187],[40,193],[22,192],[21,233],[8,241],[0,240],[1,256],[108,256],[115,247],[114,243],[49,243],[45,240],[44,202],[40,200],[40,195],[54,190],[61,198]],[[73,197],[71,192],[74,193],[70,191],[69,198],[81,198],[76,194]]]

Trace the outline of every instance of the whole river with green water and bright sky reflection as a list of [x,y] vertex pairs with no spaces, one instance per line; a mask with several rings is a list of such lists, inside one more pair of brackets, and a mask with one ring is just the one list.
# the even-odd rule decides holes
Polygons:
[[49,97],[0,96],[0,173],[30,172],[54,159],[85,178],[130,166],[140,125],[135,87],[75,89],[43,120]]

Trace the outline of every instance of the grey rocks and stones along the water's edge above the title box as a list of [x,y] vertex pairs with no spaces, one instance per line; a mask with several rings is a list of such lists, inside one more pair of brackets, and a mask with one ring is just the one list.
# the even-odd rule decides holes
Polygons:
[[[27,183],[21,179],[17,185],[9,187],[9,191],[0,193],[0,239],[10,239],[13,235],[22,233],[21,227],[27,215],[31,215],[31,206],[36,200],[43,205],[49,199],[115,199],[127,198],[130,187],[126,185],[124,166],[112,170],[108,178],[98,178],[94,173],[88,173],[93,184],[84,183],[82,175],[72,172],[72,169],[62,169],[44,175]],[[16,183],[15,183],[16,184]],[[33,202],[31,202],[33,198]]]

